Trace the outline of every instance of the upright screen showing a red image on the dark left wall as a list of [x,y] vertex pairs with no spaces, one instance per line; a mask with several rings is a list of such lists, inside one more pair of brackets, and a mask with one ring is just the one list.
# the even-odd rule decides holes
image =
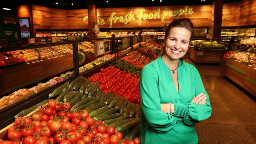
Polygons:
[[19,23],[20,23],[20,36],[22,38],[31,37],[29,18],[19,18]]

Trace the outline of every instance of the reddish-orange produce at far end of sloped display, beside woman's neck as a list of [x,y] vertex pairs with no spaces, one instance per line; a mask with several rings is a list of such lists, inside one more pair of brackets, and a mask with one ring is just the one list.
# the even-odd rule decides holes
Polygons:
[[138,50],[154,59],[163,54],[163,46],[152,41],[141,42],[141,47]]

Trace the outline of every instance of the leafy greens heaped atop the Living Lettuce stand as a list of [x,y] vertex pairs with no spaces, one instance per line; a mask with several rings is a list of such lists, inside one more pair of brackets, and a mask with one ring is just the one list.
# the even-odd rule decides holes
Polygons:
[[224,50],[224,44],[218,44],[217,41],[202,41],[196,40],[192,41],[195,49],[198,50]]

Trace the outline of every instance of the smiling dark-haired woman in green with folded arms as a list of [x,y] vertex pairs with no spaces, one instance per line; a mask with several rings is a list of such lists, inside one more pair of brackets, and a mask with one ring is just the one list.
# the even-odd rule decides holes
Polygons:
[[142,70],[142,144],[197,144],[195,124],[211,116],[197,69],[180,60],[193,31],[190,19],[174,20],[165,33],[164,54]]

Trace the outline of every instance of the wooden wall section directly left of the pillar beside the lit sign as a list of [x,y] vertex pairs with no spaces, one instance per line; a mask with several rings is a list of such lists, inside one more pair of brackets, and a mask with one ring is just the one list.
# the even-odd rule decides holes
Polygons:
[[84,22],[83,18],[88,15],[87,9],[67,10],[68,29],[87,29],[88,19]]

